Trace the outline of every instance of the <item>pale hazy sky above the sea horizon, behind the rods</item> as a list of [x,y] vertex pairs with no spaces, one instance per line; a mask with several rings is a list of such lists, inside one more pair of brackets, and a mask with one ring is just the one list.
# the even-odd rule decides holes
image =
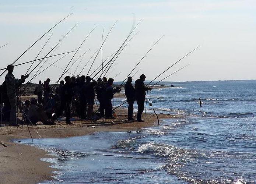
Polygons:
[[[106,74],[108,78],[121,72],[114,79],[123,81],[150,47],[164,35],[131,73],[133,75],[140,70],[134,79],[140,74],[145,74],[147,80],[154,79],[197,46],[200,46],[199,49],[157,79],[161,80],[187,64],[190,65],[165,81],[256,79],[255,10],[255,0],[3,0],[0,1],[0,46],[8,45],[0,48],[0,68],[13,63],[53,25],[73,13],[15,64],[35,59],[52,35],[38,56],[43,58],[77,23],[54,54],[77,49],[88,33],[96,28],[74,57],[74,53],[67,55],[56,62],[57,67],[49,67],[32,82],[44,81],[46,78],[50,78],[51,83],[56,82],[63,72],[60,68],[66,68],[72,57],[71,64],[90,49],[81,57],[81,62],[79,59],[69,70],[71,74],[76,70],[75,75],[78,75],[92,54],[101,47],[103,29],[105,39],[116,20],[103,45],[102,55],[99,52],[89,74],[101,64],[102,59],[107,59],[119,49],[131,28],[141,20],[131,35],[137,34],[120,53],[114,63],[116,65]],[[39,72],[60,57],[48,59]],[[81,75],[87,74],[92,60]],[[24,64],[15,67],[15,77],[25,74],[29,66]],[[32,78],[40,66],[28,79]],[[0,82],[3,82],[4,76],[0,77]]]

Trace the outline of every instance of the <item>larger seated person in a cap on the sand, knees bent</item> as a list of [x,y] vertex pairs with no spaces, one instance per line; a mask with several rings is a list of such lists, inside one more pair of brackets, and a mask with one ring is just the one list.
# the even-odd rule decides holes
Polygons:
[[30,99],[31,105],[28,108],[28,118],[31,123],[37,123],[41,121],[43,124],[55,124],[53,120],[49,120],[45,111],[37,106],[37,100],[35,98]]

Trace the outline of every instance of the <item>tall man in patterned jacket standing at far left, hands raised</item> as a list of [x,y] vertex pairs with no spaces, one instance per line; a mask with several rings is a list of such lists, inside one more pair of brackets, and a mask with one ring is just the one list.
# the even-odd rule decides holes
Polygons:
[[25,79],[29,77],[29,75],[22,75],[21,79],[16,79],[13,75],[13,65],[7,66],[8,74],[5,77],[6,81],[6,92],[10,104],[10,120],[9,125],[18,127],[17,119],[16,119],[16,112],[17,112],[17,106],[16,106],[16,99],[17,99],[17,89],[18,87],[25,82]]

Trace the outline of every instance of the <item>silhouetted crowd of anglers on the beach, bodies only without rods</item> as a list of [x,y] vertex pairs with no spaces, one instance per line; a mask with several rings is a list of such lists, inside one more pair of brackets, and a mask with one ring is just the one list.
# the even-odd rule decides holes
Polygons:
[[[18,98],[18,89],[28,78],[28,75],[21,76],[21,79],[16,79],[13,75],[14,67],[7,66],[7,75],[3,85],[1,85],[1,103],[4,104],[1,109],[1,120],[9,122],[10,126],[19,126],[17,122],[17,111],[20,103],[23,102]],[[143,122],[141,115],[144,110],[145,92],[151,88],[144,85],[145,75],[142,74],[135,82],[135,87],[132,84],[132,77],[128,77],[125,83],[125,95],[128,102],[128,120],[133,119],[133,105],[137,101],[138,113],[137,121]],[[50,86],[50,79],[36,85],[34,94],[36,98],[31,98],[25,101],[20,109],[22,118],[25,123],[37,123],[41,121],[43,124],[55,124],[57,118],[66,116],[66,123],[72,124],[71,116],[79,116],[81,120],[96,120],[98,118],[111,119],[114,111],[112,99],[115,93],[122,91],[120,86],[113,88],[113,78],[103,79],[98,78],[97,81],[91,77],[82,75],[81,77],[64,77],[64,81],[56,88],[56,93],[53,94]],[[96,99],[99,102],[97,111],[93,111]],[[64,113],[64,114],[63,114]],[[93,115],[97,116],[93,116]],[[93,118],[94,117],[94,118]]]

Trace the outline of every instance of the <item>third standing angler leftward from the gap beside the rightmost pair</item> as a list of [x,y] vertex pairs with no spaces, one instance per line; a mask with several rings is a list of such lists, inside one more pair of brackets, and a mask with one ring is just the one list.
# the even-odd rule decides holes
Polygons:
[[97,82],[93,80],[90,76],[86,77],[86,82],[84,84],[84,95],[86,102],[88,104],[88,110],[87,110],[87,120],[93,120],[92,119],[92,112],[93,112],[93,105],[94,105],[94,98],[95,98],[95,86],[97,85]]

